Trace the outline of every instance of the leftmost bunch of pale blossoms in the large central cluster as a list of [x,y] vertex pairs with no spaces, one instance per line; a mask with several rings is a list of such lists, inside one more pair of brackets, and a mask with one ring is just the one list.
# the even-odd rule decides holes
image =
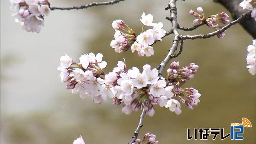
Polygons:
[[67,83],[66,88],[72,89],[72,93],[79,92],[81,98],[90,96],[93,102],[101,104],[107,101],[107,97],[113,98],[113,89],[105,85],[104,69],[107,66],[102,61],[103,55],[93,53],[81,55],[80,62],[74,62],[68,55],[61,56],[60,66],[61,81]]

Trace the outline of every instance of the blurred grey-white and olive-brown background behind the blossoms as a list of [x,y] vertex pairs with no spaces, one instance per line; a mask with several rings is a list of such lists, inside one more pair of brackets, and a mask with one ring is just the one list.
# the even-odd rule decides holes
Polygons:
[[[92,0],[50,0],[52,6],[79,6]],[[143,12],[151,13],[154,22],[165,20],[168,0],[125,0],[111,6],[84,10],[55,10],[45,17],[39,34],[28,33],[15,23],[8,0],[0,1],[1,20],[1,144],[72,144],[82,135],[86,144],[127,144],[137,127],[140,112],[121,113],[120,106],[94,104],[90,98],[81,99],[65,89],[58,77],[59,58],[68,54],[78,61],[89,52],[101,52],[110,72],[118,60],[126,59],[128,68],[144,64],[157,66],[171,46],[173,36],[154,45],[155,55],[138,57],[131,50],[117,54],[109,46],[114,30],[111,22],[124,20],[137,34]],[[206,15],[227,12],[218,3],[205,0],[177,1],[177,16],[181,26],[192,26],[188,12],[198,6]],[[230,14],[229,12],[227,12]],[[195,32],[212,32],[207,26]],[[182,55],[173,60],[181,66],[190,62],[200,67],[185,86],[201,93],[201,102],[194,110],[182,105],[182,114],[155,107],[153,117],[145,116],[140,137],[146,132],[157,135],[160,144],[255,144],[256,91],[255,76],[246,68],[247,46],[253,38],[239,25],[225,32],[224,39],[186,40]],[[231,122],[246,117],[252,128],[244,129],[244,140],[187,140],[187,128],[224,127],[230,132]],[[211,139],[212,136],[209,138]]]

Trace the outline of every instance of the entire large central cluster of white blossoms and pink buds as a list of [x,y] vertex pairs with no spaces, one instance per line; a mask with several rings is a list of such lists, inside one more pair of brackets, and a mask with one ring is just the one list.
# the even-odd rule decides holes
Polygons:
[[74,62],[68,55],[61,56],[61,81],[66,83],[72,93],[79,92],[81,98],[90,96],[93,102],[101,104],[107,97],[113,98],[113,104],[122,104],[122,112],[145,109],[149,116],[154,115],[154,105],[166,107],[181,113],[180,103],[192,109],[201,96],[196,89],[183,89],[181,86],[194,77],[198,66],[190,63],[179,69],[179,62],[173,62],[168,69],[168,80],[161,79],[156,68],[146,64],[143,72],[137,67],[126,69],[125,61],[119,61],[112,72],[105,74],[102,69],[107,65],[103,55],[93,53],[81,55],[80,62]]

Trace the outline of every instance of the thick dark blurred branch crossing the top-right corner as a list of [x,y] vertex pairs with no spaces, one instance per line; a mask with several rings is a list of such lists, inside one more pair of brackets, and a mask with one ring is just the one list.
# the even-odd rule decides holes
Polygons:
[[[239,6],[239,3],[241,3],[242,0],[214,0],[215,2],[220,3],[222,6],[224,6],[227,10],[230,11],[233,20],[238,19],[243,13],[247,12],[248,10],[243,10],[241,6]],[[255,2],[255,0],[253,0]],[[256,20],[254,20],[252,17],[248,17],[241,21],[241,26],[254,38],[256,38]]]

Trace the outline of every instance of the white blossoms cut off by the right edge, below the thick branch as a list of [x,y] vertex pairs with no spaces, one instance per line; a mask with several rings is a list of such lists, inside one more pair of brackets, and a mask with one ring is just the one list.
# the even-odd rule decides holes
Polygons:
[[253,40],[253,44],[249,45],[247,47],[247,51],[249,52],[247,54],[247,58],[246,58],[247,64],[248,64],[247,68],[248,68],[250,74],[252,74],[252,75],[255,75],[255,71],[256,71],[256,63],[255,63],[255,51],[256,50],[255,50],[255,46],[256,46],[255,45],[255,40]]

